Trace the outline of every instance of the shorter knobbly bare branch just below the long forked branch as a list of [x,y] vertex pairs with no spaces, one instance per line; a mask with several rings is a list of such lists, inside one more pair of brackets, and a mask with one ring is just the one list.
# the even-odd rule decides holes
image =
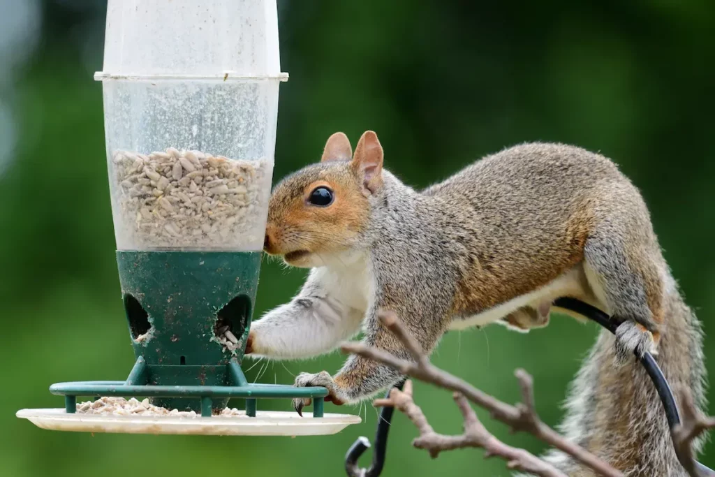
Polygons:
[[483,448],[486,451],[485,457],[503,458],[507,467],[515,471],[528,472],[540,477],[567,477],[565,473],[532,453],[508,446],[492,436],[480,423],[469,401],[463,395],[454,393],[454,400],[464,418],[464,432],[459,436],[435,433],[422,409],[413,400],[412,381],[405,382],[405,390],[394,388],[390,391],[389,398],[375,400],[375,406],[392,406],[410,418],[420,431],[420,436],[415,438],[412,445],[428,451],[432,458],[439,456],[442,451],[469,447]]

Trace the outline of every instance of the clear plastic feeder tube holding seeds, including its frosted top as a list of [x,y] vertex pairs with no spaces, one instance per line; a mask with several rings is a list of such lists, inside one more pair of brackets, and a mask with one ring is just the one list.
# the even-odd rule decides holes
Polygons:
[[103,82],[119,250],[261,250],[275,0],[110,0]]

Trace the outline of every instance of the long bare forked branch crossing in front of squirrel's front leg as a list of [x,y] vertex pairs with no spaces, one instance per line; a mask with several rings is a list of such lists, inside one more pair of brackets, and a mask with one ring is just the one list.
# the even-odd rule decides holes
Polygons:
[[345,343],[342,345],[343,353],[353,353],[364,358],[375,360],[390,368],[395,368],[403,375],[423,380],[426,383],[437,385],[440,388],[453,390],[465,396],[468,400],[485,408],[490,412],[492,418],[510,426],[513,431],[525,431],[533,434],[536,438],[547,443],[549,446],[560,449],[573,457],[576,461],[592,468],[594,471],[606,477],[623,477],[623,473],[608,465],[592,453],[586,451],[581,446],[572,443],[561,434],[546,426],[536,415],[533,407],[533,384],[531,376],[526,371],[517,370],[516,376],[521,385],[524,403],[518,406],[503,403],[465,380],[457,378],[455,375],[447,373],[445,370],[435,367],[427,355],[423,353],[417,340],[405,329],[394,313],[380,313],[380,321],[385,325],[405,345],[413,356],[415,362],[396,358],[385,350],[363,345],[363,343]]

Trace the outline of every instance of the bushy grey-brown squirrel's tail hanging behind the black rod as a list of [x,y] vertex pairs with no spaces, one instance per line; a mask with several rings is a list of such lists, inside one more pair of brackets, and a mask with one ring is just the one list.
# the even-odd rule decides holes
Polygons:
[[[699,408],[706,405],[701,325],[668,275],[664,323],[656,360],[676,395],[689,390]],[[633,357],[615,365],[613,335],[598,335],[566,400],[561,432],[627,477],[686,476],[671,441],[663,405],[641,363]],[[698,453],[703,440],[695,443]],[[572,477],[596,474],[560,451],[545,456]]]

